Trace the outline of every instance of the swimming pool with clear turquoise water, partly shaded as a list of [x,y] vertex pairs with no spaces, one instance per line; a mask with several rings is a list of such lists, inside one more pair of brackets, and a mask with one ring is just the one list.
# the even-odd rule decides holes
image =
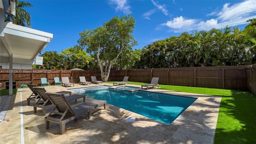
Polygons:
[[108,86],[70,89],[90,98],[106,100],[108,104],[124,108],[148,118],[171,124],[196,98],[147,92],[117,90]]

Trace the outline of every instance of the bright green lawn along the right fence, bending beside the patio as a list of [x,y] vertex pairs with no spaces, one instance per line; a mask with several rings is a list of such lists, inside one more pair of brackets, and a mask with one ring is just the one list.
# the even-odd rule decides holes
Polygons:
[[250,92],[161,84],[159,87],[163,90],[222,96],[214,144],[256,144],[256,96]]

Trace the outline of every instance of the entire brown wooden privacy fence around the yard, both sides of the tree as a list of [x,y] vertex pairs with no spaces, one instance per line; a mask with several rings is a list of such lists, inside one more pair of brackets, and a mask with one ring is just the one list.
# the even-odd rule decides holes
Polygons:
[[[159,84],[249,90],[249,72],[247,69],[246,66],[217,66],[111,70],[108,80],[122,81],[124,76],[129,76],[128,81],[150,83],[152,77],[159,77]],[[2,82],[2,88],[4,88],[5,82],[9,80],[9,72],[8,69],[0,69],[0,72],[0,81]],[[42,77],[50,80],[50,84],[54,84],[54,77],[69,77],[70,82],[78,83],[79,76],[85,76],[87,81],[91,81],[90,76],[96,76],[97,80],[101,80],[100,71],[98,70],[13,71],[13,81],[16,81],[17,87],[20,86],[21,82],[29,82],[32,78],[35,78],[32,84],[38,85]],[[252,84],[255,84],[255,71],[254,83]]]

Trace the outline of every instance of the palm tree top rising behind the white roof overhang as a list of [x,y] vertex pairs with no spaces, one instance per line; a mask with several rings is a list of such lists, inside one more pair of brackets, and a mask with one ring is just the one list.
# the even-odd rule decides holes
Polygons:
[[24,7],[33,7],[32,4],[29,2],[18,1],[16,3],[16,15],[9,16],[6,15],[6,20],[11,21],[13,24],[17,24],[20,26],[28,26],[31,28],[31,16],[30,14],[24,9]]

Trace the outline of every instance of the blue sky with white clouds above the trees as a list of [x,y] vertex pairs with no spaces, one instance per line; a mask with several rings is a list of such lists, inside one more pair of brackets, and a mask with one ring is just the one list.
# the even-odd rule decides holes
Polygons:
[[[77,45],[79,32],[98,28],[113,17],[135,18],[138,46],[182,32],[235,26],[256,18],[256,0],[24,0],[32,28],[53,34],[44,51],[61,52]],[[43,52],[44,52],[43,51]]]

